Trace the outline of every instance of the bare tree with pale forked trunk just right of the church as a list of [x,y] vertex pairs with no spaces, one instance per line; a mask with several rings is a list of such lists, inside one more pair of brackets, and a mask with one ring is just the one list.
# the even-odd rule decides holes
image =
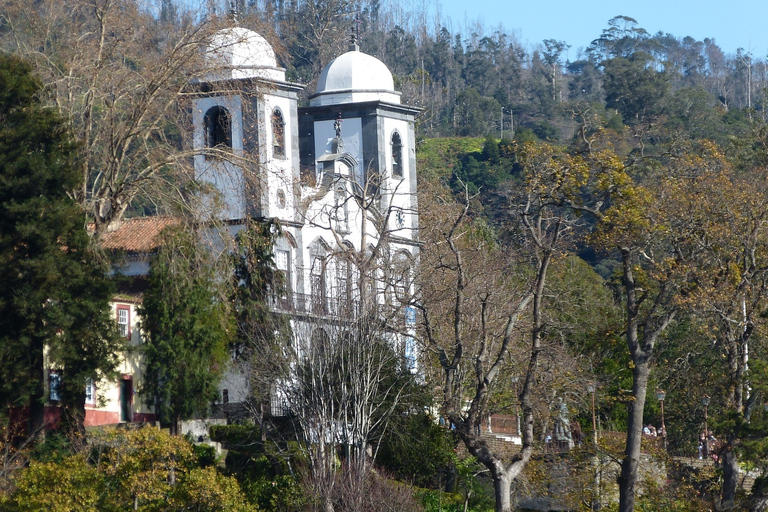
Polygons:
[[[465,190],[463,206],[452,213],[443,207],[437,214],[441,220],[433,219],[421,266],[424,336],[438,352],[444,373],[443,413],[490,471],[500,512],[511,510],[511,484],[534,450],[547,276],[579,221],[574,209],[585,208],[580,190],[589,177],[583,159],[549,145],[526,144],[516,153],[524,184],[509,198],[513,248],[494,247],[487,228],[471,222]],[[529,307],[532,315],[527,317]],[[523,349],[525,337],[529,344]],[[522,448],[505,459],[483,439],[481,422],[510,357],[524,368],[518,396]]]

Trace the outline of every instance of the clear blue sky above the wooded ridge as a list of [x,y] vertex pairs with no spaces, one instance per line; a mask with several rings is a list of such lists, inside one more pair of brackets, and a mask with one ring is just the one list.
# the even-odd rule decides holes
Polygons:
[[579,48],[597,39],[608,20],[624,15],[637,20],[650,34],[659,31],[678,38],[714,39],[726,54],[737,48],[752,50],[755,58],[768,55],[768,0],[436,0],[452,29],[465,33],[466,24],[480,21],[486,30],[501,24],[518,40],[533,47],[544,39]]

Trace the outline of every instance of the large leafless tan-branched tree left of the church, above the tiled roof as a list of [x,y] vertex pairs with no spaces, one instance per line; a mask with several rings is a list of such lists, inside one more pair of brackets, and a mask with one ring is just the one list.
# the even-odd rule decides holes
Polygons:
[[178,204],[192,177],[184,99],[214,71],[206,48],[222,23],[181,10],[164,21],[134,0],[5,1],[0,12],[0,44],[34,62],[80,143],[72,194],[96,230],[138,203]]

